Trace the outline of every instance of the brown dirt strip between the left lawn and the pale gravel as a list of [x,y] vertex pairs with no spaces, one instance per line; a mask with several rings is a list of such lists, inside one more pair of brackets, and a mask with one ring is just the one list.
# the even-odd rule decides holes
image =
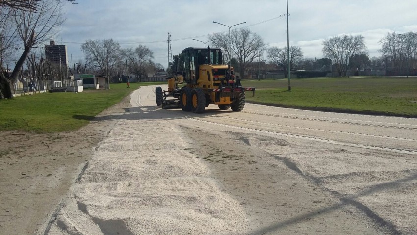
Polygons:
[[[123,112],[130,98],[102,115]],[[38,234],[116,121],[73,132],[0,132],[0,234]]]

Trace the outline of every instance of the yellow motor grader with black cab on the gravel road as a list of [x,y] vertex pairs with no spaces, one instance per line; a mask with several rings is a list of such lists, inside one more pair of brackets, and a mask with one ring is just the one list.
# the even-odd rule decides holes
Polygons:
[[245,106],[245,91],[254,95],[255,88],[243,88],[233,67],[222,62],[219,48],[182,50],[171,67],[173,74],[168,79],[168,90],[162,91],[160,86],[155,89],[156,104],[163,109],[181,107],[194,113],[203,113],[210,104],[218,105],[220,110],[241,111]]

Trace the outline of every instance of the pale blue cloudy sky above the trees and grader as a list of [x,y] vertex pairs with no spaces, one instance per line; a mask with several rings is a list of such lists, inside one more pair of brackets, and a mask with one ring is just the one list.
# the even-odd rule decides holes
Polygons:
[[[286,0],[77,0],[66,3],[66,21],[53,38],[67,45],[69,64],[84,60],[81,43],[113,39],[121,48],[145,45],[154,62],[168,63],[168,33],[172,54],[203,47],[208,35],[246,27],[268,47],[287,46]],[[324,39],[343,34],[364,36],[369,57],[380,56],[379,41],[396,31],[417,32],[417,0],[288,0],[289,44],[301,47],[305,58],[322,58]],[[209,43],[206,44],[210,45]],[[266,54],[265,54],[265,60]]]

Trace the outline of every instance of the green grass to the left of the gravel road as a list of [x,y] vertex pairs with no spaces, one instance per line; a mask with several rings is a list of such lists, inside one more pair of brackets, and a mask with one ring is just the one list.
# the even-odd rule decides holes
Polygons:
[[[72,131],[117,104],[139,86],[160,83],[110,84],[109,90],[41,93],[0,100],[0,131]],[[164,83],[163,83],[164,84]]]

